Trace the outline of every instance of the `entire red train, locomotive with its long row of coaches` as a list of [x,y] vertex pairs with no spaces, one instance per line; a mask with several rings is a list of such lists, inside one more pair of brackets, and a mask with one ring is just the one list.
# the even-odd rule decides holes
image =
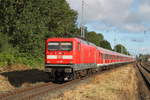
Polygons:
[[133,57],[106,50],[79,38],[49,38],[45,71],[52,80],[72,80],[100,67],[134,61]]

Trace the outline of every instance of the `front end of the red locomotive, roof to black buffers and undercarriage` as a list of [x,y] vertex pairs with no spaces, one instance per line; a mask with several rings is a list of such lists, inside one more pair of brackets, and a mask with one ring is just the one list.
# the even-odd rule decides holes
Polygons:
[[52,81],[72,80],[73,63],[73,40],[55,38],[46,41],[45,71]]

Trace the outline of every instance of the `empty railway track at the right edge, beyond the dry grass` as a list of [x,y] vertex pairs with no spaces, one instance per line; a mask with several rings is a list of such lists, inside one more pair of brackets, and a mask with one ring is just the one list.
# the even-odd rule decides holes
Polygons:
[[139,77],[139,96],[142,100],[150,100],[150,63],[137,62],[136,68]]

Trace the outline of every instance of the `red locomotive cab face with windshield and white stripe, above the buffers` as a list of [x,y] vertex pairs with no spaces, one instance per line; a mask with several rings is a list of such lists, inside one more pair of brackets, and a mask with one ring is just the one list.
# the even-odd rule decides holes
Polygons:
[[47,64],[72,64],[72,42],[48,42]]

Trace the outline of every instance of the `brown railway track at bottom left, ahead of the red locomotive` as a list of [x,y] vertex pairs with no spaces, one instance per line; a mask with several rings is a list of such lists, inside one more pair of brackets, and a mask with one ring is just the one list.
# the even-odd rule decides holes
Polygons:
[[0,94],[0,100],[38,100],[41,95],[43,96],[46,93],[59,90],[76,82],[78,82],[78,80],[66,82],[63,84],[49,82],[30,88],[16,89],[8,93]]

